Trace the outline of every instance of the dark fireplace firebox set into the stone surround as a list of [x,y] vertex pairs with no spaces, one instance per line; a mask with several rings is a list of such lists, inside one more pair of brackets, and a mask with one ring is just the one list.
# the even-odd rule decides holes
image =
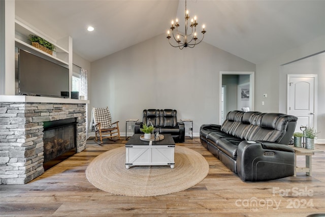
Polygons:
[[44,122],[44,170],[66,160],[77,152],[76,118]]

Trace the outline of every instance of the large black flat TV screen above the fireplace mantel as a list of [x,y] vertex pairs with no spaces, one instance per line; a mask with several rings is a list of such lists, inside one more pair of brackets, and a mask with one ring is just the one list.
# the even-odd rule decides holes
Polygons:
[[69,69],[19,49],[19,94],[69,97]]

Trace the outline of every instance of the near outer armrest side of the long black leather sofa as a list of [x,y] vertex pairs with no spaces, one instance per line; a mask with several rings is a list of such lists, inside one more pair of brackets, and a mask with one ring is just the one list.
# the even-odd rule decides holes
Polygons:
[[243,181],[262,181],[294,175],[294,149],[267,141],[242,141],[238,145],[237,174]]

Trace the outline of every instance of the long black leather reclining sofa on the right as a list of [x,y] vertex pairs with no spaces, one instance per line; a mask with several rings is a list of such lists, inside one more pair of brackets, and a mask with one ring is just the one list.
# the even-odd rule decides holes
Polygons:
[[281,113],[231,111],[222,125],[202,125],[202,145],[243,181],[294,175],[295,152],[288,146],[297,117]]

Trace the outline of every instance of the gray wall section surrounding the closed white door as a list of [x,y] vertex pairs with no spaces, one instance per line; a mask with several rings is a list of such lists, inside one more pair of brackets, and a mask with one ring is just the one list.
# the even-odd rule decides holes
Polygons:
[[[295,49],[288,50],[264,63],[257,64],[255,73],[255,110],[261,112],[285,113],[286,75],[281,73],[281,65],[321,51],[325,51],[325,36],[316,38]],[[317,129],[318,131],[322,131],[318,134],[318,143],[325,143],[325,131],[323,130],[325,126],[325,110],[323,109],[325,106],[325,91],[323,89],[325,71],[323,64],[323,61],[322,63],[318,61],[318,63],[312,65],[305,65],[305,72],[303,73],[318,75]],[[308,70],[306,68],[308,68]],[[300,72],[297,71],[297,74],[300,74]],[[263,94],[268,94],[268,98],[263,98]],[[265,102],[264,106],[262,105],[262,101]]]

